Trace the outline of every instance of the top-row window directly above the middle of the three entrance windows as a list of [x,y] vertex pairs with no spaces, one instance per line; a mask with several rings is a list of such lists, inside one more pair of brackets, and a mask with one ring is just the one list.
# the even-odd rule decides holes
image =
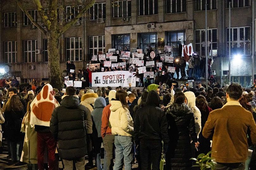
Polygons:
[[157,14],[157,0],[138,0],[139,15]]

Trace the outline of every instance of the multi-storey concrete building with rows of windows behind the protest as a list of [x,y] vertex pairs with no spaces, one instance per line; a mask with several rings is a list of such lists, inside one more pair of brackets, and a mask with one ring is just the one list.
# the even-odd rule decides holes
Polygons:
[[[232,55],[240,53],[242,56],[240,62],[232,57],[231,75],[232,81],[244,86],[250,84],[252,74],[253,2],[232,0],[231,5]],[[207,0],[207,3],[208,39],[211,42],[208,52],[214,58],[212,70],[216,71],[220,81],[221,71],[228,70],[228,3],[224,0]],[[64,25],[72,19],[65,13],[72,11],[75,14],[78,10],[68,5],[63,9],[59,10],[59,21]],[[41,25],[35,6],[28,5],[27,10]],[[21,82],[32,78],[47,81],[45,35],[31,25],[14,0],[1,2],[1,15],[1,67],[10,66],[10,74],[21,77]],[[181,41],[192,43],[194,51],[204,56],[204,29],[204,0],[119,0],[113,3],[112,0],[96,0],[84,17],[60,37],[61,70],[66,69],[68,59],[74,61],[76,70],[82,69],[93,55],[110,48],[124,50],[128,47],[133,52],[139,47],[146,52],[152,47],[158,53],[163,51],[164,45],[170,45],[177,56]]]

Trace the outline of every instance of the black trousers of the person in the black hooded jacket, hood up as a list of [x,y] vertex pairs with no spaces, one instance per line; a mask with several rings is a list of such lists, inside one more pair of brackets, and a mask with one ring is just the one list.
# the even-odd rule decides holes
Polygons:
[[161,141],[156,143],[140,142],[140,159],[142,169],[148,169],[152,163],[152,170],[159,170],[162,154]]

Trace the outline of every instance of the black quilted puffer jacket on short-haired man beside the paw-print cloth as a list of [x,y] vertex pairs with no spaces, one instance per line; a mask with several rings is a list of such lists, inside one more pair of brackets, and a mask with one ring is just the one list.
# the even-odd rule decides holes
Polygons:
[[62,159],[72,160],[87,154],[85,118],[88,109],[79,104],[78,97],[65,96],[61,106],[54,109],[50,130],[58,141]]

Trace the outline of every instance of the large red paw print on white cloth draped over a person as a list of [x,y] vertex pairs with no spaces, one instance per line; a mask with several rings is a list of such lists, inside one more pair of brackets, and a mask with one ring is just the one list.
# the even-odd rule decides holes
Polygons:
[[48,85],[45,85],[34,100],[36,102],[32,106],[32,111],[37,119],[50,121],[52,111],[55,108],[53,91],[49,89]]

